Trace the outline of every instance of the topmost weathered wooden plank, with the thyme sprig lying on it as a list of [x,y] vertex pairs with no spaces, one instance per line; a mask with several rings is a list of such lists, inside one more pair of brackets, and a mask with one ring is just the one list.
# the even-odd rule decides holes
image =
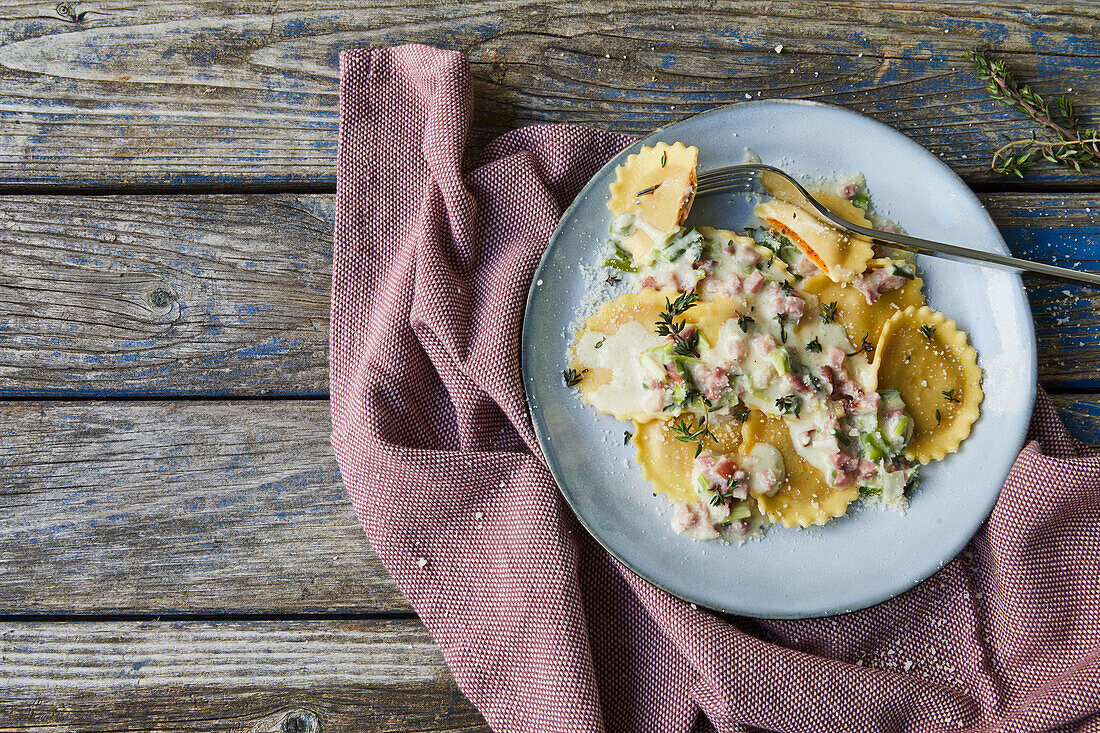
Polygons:
[[[404,42],[471,59],[476,144],[529,123],[644,132],[746,96],[801,97],[866,111],[988,179],[999,135],[1026,124],[988,99],[964,51],[992,47],[1037,89],[1100,101],[1100,8],[1088,2],[67,8],[0,9],[0,183],[331,184],[339,52]],[[1047,168],[1035,179],[1098,175]]]

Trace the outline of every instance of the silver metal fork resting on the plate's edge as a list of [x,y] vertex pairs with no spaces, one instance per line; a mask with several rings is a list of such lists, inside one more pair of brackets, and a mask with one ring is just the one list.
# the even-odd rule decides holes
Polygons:
[[[1090,285],[1100,285],[1100,273],[1097,272],[1080,272],[1070,270],[1069,267],[1058,267],[1042,262],[1032,262],[1031,260],[1010,258],[1004,254],[934,242],[927,239],[910,237],[909,234],[861,227],[829,211],[823,204],[811,196],[810,192],[802,187],[802,184],[787,173],[770,165],[747,163],[745,165],[733,165],[701,173],[698,174],[698,192],[696,196],[712,196],[724,193],[766,194],[770,196],[777,186],[781,186],[788,196],[794,199],[791,201],[792,204],[800,204],[803,208],[816,211],[822,219],[827,220],[838,229],[847,231],[850,234],[866,237],[878,244],[897,247],[902,250],[930,254],[945,260],[978,262],[987,266],[1013,271],[1022,270],[1058,280],[1071,280]],[[799,201],[800,197],[804,200]]]

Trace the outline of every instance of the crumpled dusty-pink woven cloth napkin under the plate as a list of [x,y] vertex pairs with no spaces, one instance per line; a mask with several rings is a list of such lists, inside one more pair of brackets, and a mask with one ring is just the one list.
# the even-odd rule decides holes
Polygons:
[[531,273],[630,140],[539,125],[468,165],[469,70],[426,46],[345,52],[340,91],[332,444],[494,731],[1100,731],[1100,460],[1045,396],[987,525],[915,589],[807,621],[696,609],[580,527],[520,384]]

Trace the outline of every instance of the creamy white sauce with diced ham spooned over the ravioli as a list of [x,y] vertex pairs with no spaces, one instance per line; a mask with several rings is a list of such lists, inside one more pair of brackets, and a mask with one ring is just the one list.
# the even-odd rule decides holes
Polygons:
[[[804,274],[799,270],[809,273],[813,265],[805,267],[801,254],[781,249],[774,232],[762,240],[707,228],[663,232],[616,217],[612,243],[636,228],[657,244],[642,264],[636,263],[635,289],[696,292],[701,303],[680,318],[692,324],[691,332],[697,321],[697,341],[681,344],[637,321],[610,335],[584,332],[575,344],[578,359],[612,374],[587,393],[588,402],[617,416],[689,416],[700,425],[730,419],[741,405],[782,416],[799,456],[829,486],[855,484],[884,502],[903,503],[914,474],[899,458],[905,441],[899,428],[903,405],[891,403],[891,414],[880,415],[880,395],[864,387],[869,361],[857,355],[859,349],[816,296],[798,288]],[[758,241],[770,241],[776,250]],[[728,317],[715,328],[707,314],[723,308]],[[747,511],[745,496],[733,484],[715,483],[712,471],[712,462],[726,459],[732,457],[708,451],[696,457],[692,482],[700,501],[676,507],[678,532],[696,539],[746,535],[751,522],[740,516]],[[748,491],[771,495],[782,483],[785,467],[773,446],[757,444],[741,463],[735,470],[746,496]]]

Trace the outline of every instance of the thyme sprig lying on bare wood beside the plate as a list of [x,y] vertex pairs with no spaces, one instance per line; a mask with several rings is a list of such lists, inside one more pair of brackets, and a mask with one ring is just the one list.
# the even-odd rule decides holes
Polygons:
[[1023,178],[1024,172],[1040,160],[1078,173],[1081,168],[1100,166],[1100,131],[1081,127],[1068,97],[1058,97],[1052,108],[1028,85],[1021,85],[1003,61],[990,61],[978,50],[968,51],[965,56],[978,78],[986,83],[990,97],[1012,107],[1038,128],[1028,138],[1005,138],[1005,143],[993,153],[992,169]]

